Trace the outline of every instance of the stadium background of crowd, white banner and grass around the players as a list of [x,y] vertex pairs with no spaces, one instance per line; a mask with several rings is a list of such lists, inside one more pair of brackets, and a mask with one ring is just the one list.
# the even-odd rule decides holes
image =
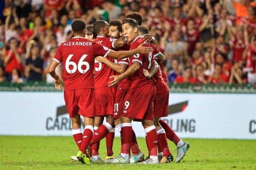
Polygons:
[[[87,24],[99,19],[122,20],[129,12],[143,15],[142,25],[150,29],[167,58],[170,99],[165,120],[192,143],[183,164],[171,166],[255,169],[255,7],[254,0],[0,0],[0,169],[29,169],[36,164],[38,169],[78,166],[70,166],[67,160],[76,153],[71,137],[30,137],[71,136],[63,92],[55,91],[47,73],[49,63],[58,45],[73,36],[72,20],[81,18]],[[135,123],[134,127],[144,137],[141,125]],[[55,146],[63,140],[67,141],[63,147]],[[119,138],[115,144],[118,153]],[[139,138],[139,144],[144,146],[145,139]],[[52,152],[58,151],[52,147],[67,152],[54,161]],[[234,147],[237,152],[232,151]],[[50,155],[50,160],[33,150],[43,157]],[[219,156],[204,158],[211,154]],[[129,167],[133,168],[137,167]]]

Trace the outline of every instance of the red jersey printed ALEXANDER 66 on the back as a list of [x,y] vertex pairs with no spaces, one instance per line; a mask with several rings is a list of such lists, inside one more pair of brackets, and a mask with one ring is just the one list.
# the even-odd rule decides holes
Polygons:
[[94,59],[100,55],[106,57],[109,52],[107,47],[84,37],[61,43],[53,60],[64,64],[64,90],[94,88]]

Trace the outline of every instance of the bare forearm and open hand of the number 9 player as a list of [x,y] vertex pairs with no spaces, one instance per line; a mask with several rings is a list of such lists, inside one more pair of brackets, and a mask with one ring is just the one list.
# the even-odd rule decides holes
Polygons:
[[129,66],[128,69],[124,73],[122,73],[121,75],[112,75],[111,77],[109,77],[109,78],[113,78],[114,80],[109,82],[108,86],[109,87],[116,86],[119,83],[119,81],[121,81],[122,79],[132,75],[138,69],[140,69],[140,63],[138,63],[138,62],[132,63],[132,65]]

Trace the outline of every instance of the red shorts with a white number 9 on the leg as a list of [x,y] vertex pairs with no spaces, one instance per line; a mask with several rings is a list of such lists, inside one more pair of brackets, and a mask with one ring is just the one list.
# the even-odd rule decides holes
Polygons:
[[155,93],[154,84],[129,89],[123,103],[122,115],[136,120],[153,120]]

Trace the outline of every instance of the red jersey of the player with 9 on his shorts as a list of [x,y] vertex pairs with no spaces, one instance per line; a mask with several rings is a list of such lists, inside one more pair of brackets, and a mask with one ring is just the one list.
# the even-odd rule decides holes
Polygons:
[[[134,41],[131,43],[131,49],[136,49],[140,44],[142,44],[144,42],[143,37],[142,36],[138,36],[134,39]],[[152,43],[145,43],[146,47],[153,47]],[[151,70],[152,65],[153,65],[153,61],[154,61],[154,56],[153,53],[149,53],[149,54],[136,54],[133,55],[131,57],[131,61],[130,61],[130,65],[134,62],[138,62],[140,63],[140,69],[137,70],[136,72],[134,72],[132,74],[132,78],[131,78],[131,87],[130,89],[136,88],[136,87],[140,87],[143,86],[145,84],[154,84],[154,78],[146,78],[143,74],[143,69],[146,69],[148,71]]]

